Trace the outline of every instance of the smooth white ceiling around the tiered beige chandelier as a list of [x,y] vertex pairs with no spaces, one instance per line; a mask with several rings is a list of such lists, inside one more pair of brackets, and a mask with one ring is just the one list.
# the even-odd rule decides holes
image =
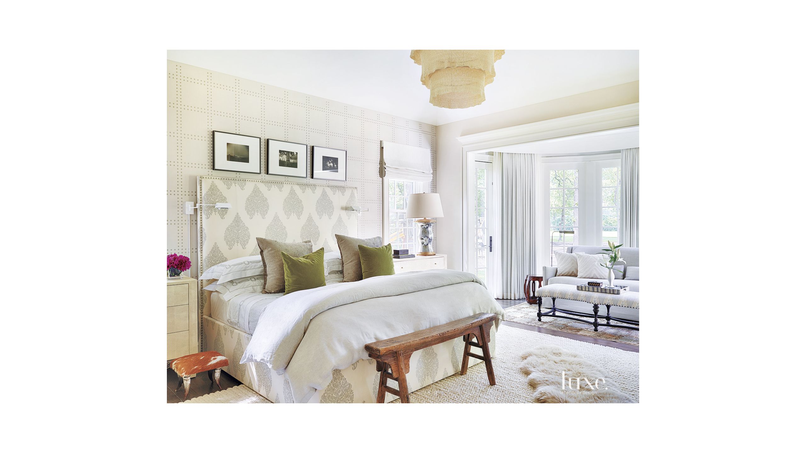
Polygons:
[[428,102],[408,50],[172,50],[168,59],[439,126],[638,80],[636,50],[508,50],[487,100]]

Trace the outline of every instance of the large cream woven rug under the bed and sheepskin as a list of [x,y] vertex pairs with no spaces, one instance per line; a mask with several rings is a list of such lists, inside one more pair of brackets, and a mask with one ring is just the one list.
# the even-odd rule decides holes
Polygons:
[[[534,389],[521,372],[521,354],[534,347],[552,345],[565,351],[572,351],[584,359],[598,365],[605,373],[608,382],[618,385],[638,402],[638,353],[622,351],[614,347],[600,346],[553,335],[539,334],[517,327],[501,326],[496,335],[496,356],[492,358],[492,368],[496,374],[496,385],[490,385],[484,364],[476,364],[467,369],[467,374],[458,373],[430,384],[409,394],[413,403],[531,403]],[[390,381],[393,387],[397,383]],[[210,393],[185,401],[188,403],[268,403],[266,398],[252,392],[246,385],[239,385],[222,392]],[[393,403],[400,400],[391,401]]]

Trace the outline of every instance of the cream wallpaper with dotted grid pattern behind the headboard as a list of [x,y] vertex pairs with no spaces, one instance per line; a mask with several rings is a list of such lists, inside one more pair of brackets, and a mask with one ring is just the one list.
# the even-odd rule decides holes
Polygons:
[[[214,171],[213,131],[260,137],[264,174]],[[307,143],[309,162],[312,145],[347,150],[347,182],[266,175],[266,139]],[[430,124],[168,60],[168,253],[188,251],[183,204],[197,201],[199,175],[355,186],[359,206],[369,208],[359,217],[359,237],[381,235],[381,140],[430,148],[436,174]],[[436,179],[431,191],[436,191]],[[189,273],[195,277],[196,214],[190,218]]]

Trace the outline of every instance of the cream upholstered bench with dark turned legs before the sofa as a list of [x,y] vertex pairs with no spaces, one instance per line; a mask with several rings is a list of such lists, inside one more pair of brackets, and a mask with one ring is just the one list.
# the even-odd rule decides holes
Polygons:
[[[625,283],[629,285],[629,281],[625,281]],[[554,318],[565,318],[565,319],[573,319],[574,321],[587,322],[588,324],[593,325],[593,330],[596,332],[599,331],[599,326],[621,327],[622,329],[638,330],[638,322],[630,321],[629,319],[621,319],[610,316],[611,306],[632,308],[638,310],[638,293],[632,291],[627,291],[626,293],[621,294],[594,293],[592,291],[581,291],[580,289],[576,289],[576,285],[555,283],[538,288],[537,291],[534,292],[534,295],[535,297],[537,297],[538,302],[538,321],[542,321],[541,318],[543,316],[550,316]],[[542,311],[543,297],[551,297],[551,309],[546,312]],[[588,302],[588,304],[593,305],[593,315],[591,316],[590,314],[580,313],[571,310],[561,310],[557,308],[556,305],[557,299]],[[599,322],[599,305],[605,305],[607,307],[607,314],[605,315],[605,324],[600,324]],[[572,314],[574,316],[582,318],[593,318],[593,322],[585,321],[584,319],[580,318],[570,318],[568,316],[562,316],[557,314],[557,312],[564,314]],[[611,324],[610,323],[611,321],[621,322],[622,324],[627,324],[627,326],[617,326],[615,324]]]

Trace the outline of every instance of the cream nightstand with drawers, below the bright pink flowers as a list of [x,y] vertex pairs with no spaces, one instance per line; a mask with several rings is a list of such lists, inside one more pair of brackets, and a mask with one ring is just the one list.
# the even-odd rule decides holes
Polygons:
[[168,360],[199,351],[198,282],[168,280]]

